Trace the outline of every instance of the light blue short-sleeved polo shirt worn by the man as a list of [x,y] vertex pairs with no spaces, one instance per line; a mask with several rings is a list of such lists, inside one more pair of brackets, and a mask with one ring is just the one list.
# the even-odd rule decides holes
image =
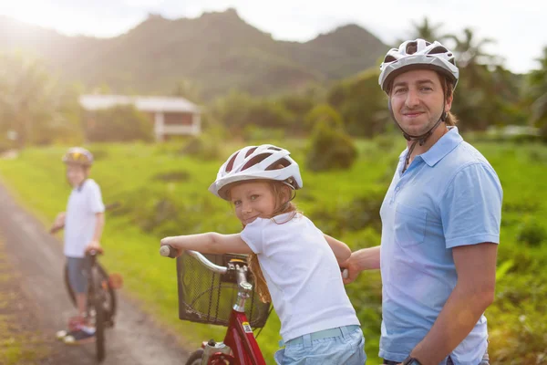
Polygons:
[[[402,361],[433,326],[456,286],[452,247],[500,242],[501,183],[458,128],[450,128],[405,173],[407,150],[380,209],[382,242],[381,358]],[[450,354],[476,365],[487,349],[482,316]],[[443,360],[441,364],[445,364]]]

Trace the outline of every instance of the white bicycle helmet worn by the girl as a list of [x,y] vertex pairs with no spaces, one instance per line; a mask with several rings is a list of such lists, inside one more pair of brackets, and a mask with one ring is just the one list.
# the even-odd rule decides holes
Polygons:
[[[298,163],[290,157],[290,152],[272,144],[247,146],[232,153],[219,169],[216,181],[209,191],[228,200],[226,186],[245,180],[275,180],[283,182],[292,189],[302,188],[302,176]],[[284,166],[278,168],[279,165]]]

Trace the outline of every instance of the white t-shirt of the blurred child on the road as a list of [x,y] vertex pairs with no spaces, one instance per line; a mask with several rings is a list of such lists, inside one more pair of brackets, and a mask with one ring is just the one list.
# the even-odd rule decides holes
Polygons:
[[86,246],[93,239],[97,216],[103,213],[100,188],[94,180],[88,179],[78,188],[72,189],[68,197],[65,217],[65,255],[84,257]]

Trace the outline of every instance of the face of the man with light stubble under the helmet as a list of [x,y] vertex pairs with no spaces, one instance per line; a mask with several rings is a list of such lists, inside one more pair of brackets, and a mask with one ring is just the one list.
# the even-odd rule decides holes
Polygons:
[[444,100],[439,74],[429,69],[398,75],[389,98],[397,123],[414,136],[426,133],[439,120],[443,107],[448,112],[452,105],[451,97]]

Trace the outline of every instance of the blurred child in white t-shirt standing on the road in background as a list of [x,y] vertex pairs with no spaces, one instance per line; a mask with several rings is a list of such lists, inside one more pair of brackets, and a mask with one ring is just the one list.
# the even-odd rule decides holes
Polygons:
[[57,214],[50,232],[65,228],[65,248],[68,281],[75,293],[77,316],[70,318],[68,330],[57,332],[57,338],[66,343],[83,343],[93,340],[95,328],[87,320],[89,257],[93,249],[102,252],[100,237],[105,224],[105,205],[100,188],[89,179],[93,155],[86,149],[74,147],[63,157],[67,165],[67,181],[72,186],[67,212]]

